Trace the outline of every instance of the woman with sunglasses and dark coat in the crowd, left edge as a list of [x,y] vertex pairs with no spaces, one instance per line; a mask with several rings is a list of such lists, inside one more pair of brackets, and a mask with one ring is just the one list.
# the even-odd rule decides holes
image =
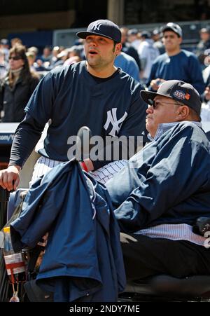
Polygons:
[[38,84],[38,76],[31,73],[25,46],[15,45],[9,53],[8,76],[1,83],[2,122],[20,122],[25,116],[25,107]]

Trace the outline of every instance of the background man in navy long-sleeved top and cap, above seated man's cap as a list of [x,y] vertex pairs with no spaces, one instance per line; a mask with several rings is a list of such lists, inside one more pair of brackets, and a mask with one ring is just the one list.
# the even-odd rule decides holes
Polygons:
[[170,22],[162,27],[162,32],[166,53],[158,56],[153,63],[151,75],[147,81],[149,90],[157,91],[163,81],[177,79],[190,83],[202,94],[204,80],[200,62],[195,54],[181,50],[181,27]]

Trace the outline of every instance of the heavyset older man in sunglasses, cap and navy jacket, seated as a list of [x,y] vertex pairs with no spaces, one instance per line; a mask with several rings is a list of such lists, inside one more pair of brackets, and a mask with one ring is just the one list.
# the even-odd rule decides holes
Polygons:
[[[130,159],[107,188],[116,208],[128,280],[166,273],[210,273],[209,239],[193,232],[209,217],[209,141],[200,95],[183,81],[141,91],[153,141]],[[207,236],[208,237],[208,233]]]

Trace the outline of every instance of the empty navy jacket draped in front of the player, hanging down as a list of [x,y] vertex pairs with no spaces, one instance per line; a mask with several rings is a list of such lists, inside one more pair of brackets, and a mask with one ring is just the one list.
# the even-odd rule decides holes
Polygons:
[[11,224],[13,247],[34,247],[49,232],[37,284],[55,301],[116,301],[125,287],[120,233],[105,186],[75,160],[39,178]]

